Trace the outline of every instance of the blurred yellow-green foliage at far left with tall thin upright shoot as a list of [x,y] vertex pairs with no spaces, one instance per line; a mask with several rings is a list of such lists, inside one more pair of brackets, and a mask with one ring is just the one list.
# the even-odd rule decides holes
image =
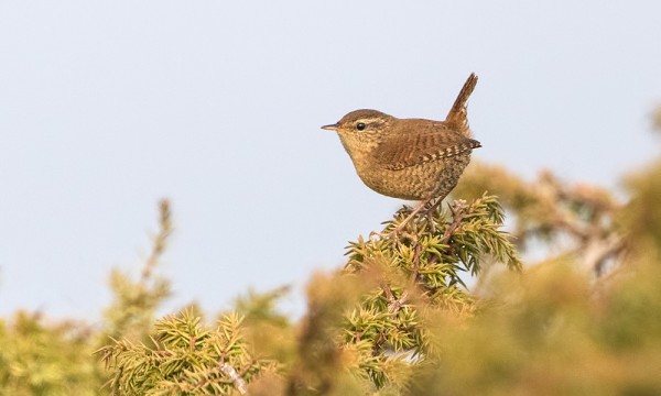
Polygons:
[[156,307],[170,294],[169,282],[155,275],[172,230],[170,206],[160,204],[160,231],[141,277],[113,271],[113,301],[106,320],[91,327],[75,321],[44,319],[40,312],[19,311],[0,321],[0,395],[98,395],[108,381],[94,351],[108,337],[145,339]]

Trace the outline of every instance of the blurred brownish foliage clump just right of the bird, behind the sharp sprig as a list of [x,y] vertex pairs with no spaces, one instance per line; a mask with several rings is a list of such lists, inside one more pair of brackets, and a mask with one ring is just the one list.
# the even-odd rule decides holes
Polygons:
[[542,261],[575,255],[576,265],[595,277],[626,260],[627,232],[616,221],[624,212],[622,204],[603,188],[563,183],[550,172],[527,182],[500,166],[474,163],[455,194],[478,196],[484,189],[501,197],[522,252],[532,248]]

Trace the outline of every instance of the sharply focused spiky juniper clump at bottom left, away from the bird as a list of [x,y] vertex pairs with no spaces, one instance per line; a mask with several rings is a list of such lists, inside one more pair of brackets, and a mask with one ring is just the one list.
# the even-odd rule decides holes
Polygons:
[[113,395],[230,395],[271,363],[253,360],[241,336],[241,319],[226,316],[215,329],[189,311],[158,320],[152,345],[115,341],[98,351],[116,371]]

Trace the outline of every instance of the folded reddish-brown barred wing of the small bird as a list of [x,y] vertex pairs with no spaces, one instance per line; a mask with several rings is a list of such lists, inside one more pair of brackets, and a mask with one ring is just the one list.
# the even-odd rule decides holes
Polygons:
[[401,170],[410,166],[459,155],[480,146],[478,141],[468,139],[458,132],[434,128],[433,130],[403,132],[390,136],[381,144],[381,150],[377,155],[384,168]]

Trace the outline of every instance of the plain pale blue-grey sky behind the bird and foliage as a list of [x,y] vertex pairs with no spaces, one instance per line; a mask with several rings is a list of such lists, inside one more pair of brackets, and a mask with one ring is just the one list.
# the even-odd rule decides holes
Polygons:
[[164,312],[339,267],[402,201],[319,127],[443,119],[470,72],[474,158],[614,187],[659,153],[660,1],[1,1],[0,315],[96,320],[162,197]]

